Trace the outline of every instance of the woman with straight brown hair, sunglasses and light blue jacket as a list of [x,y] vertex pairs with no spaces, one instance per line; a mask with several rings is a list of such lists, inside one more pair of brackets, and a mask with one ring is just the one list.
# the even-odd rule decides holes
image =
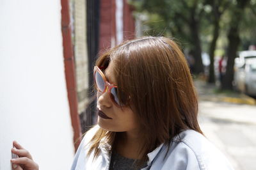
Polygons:
[[122,43],[97,59],[94,77],[98,125],[71,169],[232,169],[200,130],[193,80],[175,42]]

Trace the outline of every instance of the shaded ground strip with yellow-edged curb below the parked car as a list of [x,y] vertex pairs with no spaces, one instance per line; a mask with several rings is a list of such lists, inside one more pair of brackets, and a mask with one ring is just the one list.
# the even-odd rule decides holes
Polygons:
[[213,84],[207,84],[200,79],[195,81],[199,100],[212,102],[227,102],[233,104],[256,105],[256,100],[238,92],[220,92]]

